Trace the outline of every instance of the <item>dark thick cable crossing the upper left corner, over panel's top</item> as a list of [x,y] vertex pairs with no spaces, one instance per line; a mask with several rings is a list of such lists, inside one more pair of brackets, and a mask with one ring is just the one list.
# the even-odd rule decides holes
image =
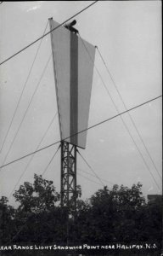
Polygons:
[[[67,21],[75,18],[77,15],[82,14],[83,11],[85,11],[86,9],[90,8],[91,6],[93,6],[93,4],[98,3],[97,1],[94,1],[93,3],[87,5],[87,7],[85,7],[84,9],[82,9],[81,11],[77,12],[76,15],[72,15],[69,19],[65,20],[64,22],[62,22],[61,24],[59,24],[59,26],[63,26]],[[50,34],[51,32],[53,32],[54,30],[58,29],[59,26],[56,26],[55,28],[53,28],[51,31],[45,33],[42,37],[37,38],[35,41],[33,41],[31,44],[26,45],[23,49],[20,49],[19,51],[17,51],[14,55],[11,55],[10,57],[8,57],[7,59],[5,59],[4,61],[0,62],[0,66],[3,65],[3,63],[9,61],[10,59],[14,58],[14,56],[19,55],[22,51],[24,51],[25,49],[31,47],[31,45],[36,44],[39,40],[41,40],[42,38],[46,37],[48,34]]]

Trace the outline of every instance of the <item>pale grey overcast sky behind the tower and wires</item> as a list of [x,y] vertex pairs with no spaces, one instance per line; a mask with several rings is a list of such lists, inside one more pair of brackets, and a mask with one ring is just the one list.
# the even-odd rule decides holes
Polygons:
[[[53,17],[53,20],[61,23],[89,3],[93,2],[3,2],[0,5],[0,61],[40,37],[47,25],[48,18]],[[76,21],[76,29],[79,30],[82,38],[93,45],[98,45],[126,108],[135,107],[161,95],[160,1],[99,1],[78,15]],[[39,42],[0,67],[0,145],[3,144],[38,44]],[[37,61],[26,84],[20,107],[0,154],[1,164],[50,53],[51,41],[48,35],[42,40]],[[98,52],[96,52],[95,65],[119,112],[123,112],[125,108],[104,67],[104,63],[99,58]],[[104,84],[94,70],[89,125],[94,125],[117,114]],[[53,63],[51,60],[25,115],[6,163],[36,150],[56,111]],[[135,109],[131,115],[152,160],[155,162],[157,172],[161,176],[161,98]],[[131,187],[133,183],[141,182],[143,183],[143,195],[160,194],[162,184],[155,166],[143,147],[128,114],[123,115],[123,119],[149,169],[145,166],[120,117],[89,130],[87,132],[87,148],[85,150],[80,149],[80,152],[109,188],[115,183]],[[58,118],[56,118],[40,148],[58,140],[59,124]],[[32,182],[34,173],[41,174],[58,146],[55,145],[35,154],[30,166],[21,178],[20,184],[24,181]],[[25,158],[1,170],[0,195],[8,196],[11,193],[21,173],[25,171],[25,166],[29,160],[30,157]],[[93,195],[97,189],[101,189],[102,185],[96,177],[92,176],[93,172],[83,162],[80,155],[78,155],[77,166],[79,174],[77,183],[82,185],[82,198],[85,199]],[[53,180],[59,191],[60,152],[48,166],[44,177]],[[12,202],[12,198],[10,202]]]

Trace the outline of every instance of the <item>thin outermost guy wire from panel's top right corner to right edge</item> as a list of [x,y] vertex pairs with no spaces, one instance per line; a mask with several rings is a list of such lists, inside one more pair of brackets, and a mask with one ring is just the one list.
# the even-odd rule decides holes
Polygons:
[[[98,46],[95,46],[95,47],[96,47],[96,49],[98,49]],[[113,83],[114,86],[115,86],[115,90],[117,91],[118,95],[119,95],[120,98],[121,98],[121,102],[123,103],[124,108],[127,109],[127,108],[126,108],[126,104],[125,104],[125,102],[124,102],[124,100],[123,100],[123,98],[122,98],[122,96],[121,96],[120,90],[118,90],[118,87],[117,87],[117,85],[115,84],[115,80],[113,79],[113,76],[111,75],[110,70],[109,70],[109,68],[107,67],[106,62],[104,61],[104,57],[102,56],[102,54],[101,54],[101,52],[99,51],[99,49],[98,49],[98,54],[100,55],[101,60],[103,61],[104,66],[106,67],[106,70],[107,70],[107,72],[108,72],[109,75],[110,75],[110,79],[111,79],[112,83]],[[150,155],[150,153],[149,153],[149,149],[148,149],[147,146],[145,145],[145,143],[144,143],[144,141],[143,141],[143,137],[141,136],[140,132],[138,131],[138,127],[137,127],[137,125],[135,124],[134,120],[132,119],[132,115],[131,115],[129,112],[128,112],[128,116],[130,117],[130,119],[131,119],[131,121],[132,121],[132,125],[134,126],[135,130],[136,130],[137,133],[138,133],[138,137],[140,138],[141,142],[143,143],[143,146],[144,146],[144,148],[145,148],[147,154],[149,155],[149,158],[150,158],[150,160],[152,161],[153,166],[155,167],[155,171],[157,172],[157,174],[158,174],[159,177],[160,177],[160,173],[159,173],[157,167],[155,166],[155,162],[154,162],[154,160],[152,159],[152,157],[151,157],[151,155]],[[160,177],[160,178],[161,178],[161,177]]]

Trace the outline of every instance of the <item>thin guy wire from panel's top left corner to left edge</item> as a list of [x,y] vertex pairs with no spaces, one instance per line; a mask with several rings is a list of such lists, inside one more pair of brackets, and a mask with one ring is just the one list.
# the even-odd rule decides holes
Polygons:
[[[47,30],[47,26],[48,26],[48,22],[47,22],[47,25],[45,26],[43,35],[44,35],[44,33],[46,32],[46,30]],[[23,96],[23,94],[24,94],[24,91],[25,91],[25,88],[26,88],[26,84],[27,84],[27,82],[28,82],[28,80],[29,80],[29,78],[30,78],[31,70],[32,70],[32,68],[33,68],[33,66],[34,66],[34,64],[35,64],[35,61],[37,60],[37,55],[38,55],[39,49],[41,48],[41,45],[42,45],[42,40],[40,41],[40,44],[38,45],[36,55],[34,56],[34,59],[33,59],[32,63],[31,63],[31,68],[30,68],[29,73],[28,73],[28,75],[27,75],[27,77],[26,77],[25,84],[24,84],[24,86],[23,86],[23,90],[21,91],[19,101],[18,101],[18,103],[17,103],[17,105],[16,105],[16,108],[14,109],[13,117],[12,117],[10,123],[9,123],[8,130],[7,130],[6,135],[5,135],[4,139],[3,139],[3,145],[2,145],[2,147],[1,147],[1,149],[0,149],[0,153],[1,153],[1,151],[3,150],[4,143],[6,142],[6,139],[7,139],[7,137],[8,137],[8,132],[9,132],[10,129],[11,129],[11,125],[13,124],[14,117],[15,117],[16,112],[17,112],[17,110],[18,110],[18,108],[19,108],[19,106],[20,106],[21,98],[22,98],[22,96]]]

